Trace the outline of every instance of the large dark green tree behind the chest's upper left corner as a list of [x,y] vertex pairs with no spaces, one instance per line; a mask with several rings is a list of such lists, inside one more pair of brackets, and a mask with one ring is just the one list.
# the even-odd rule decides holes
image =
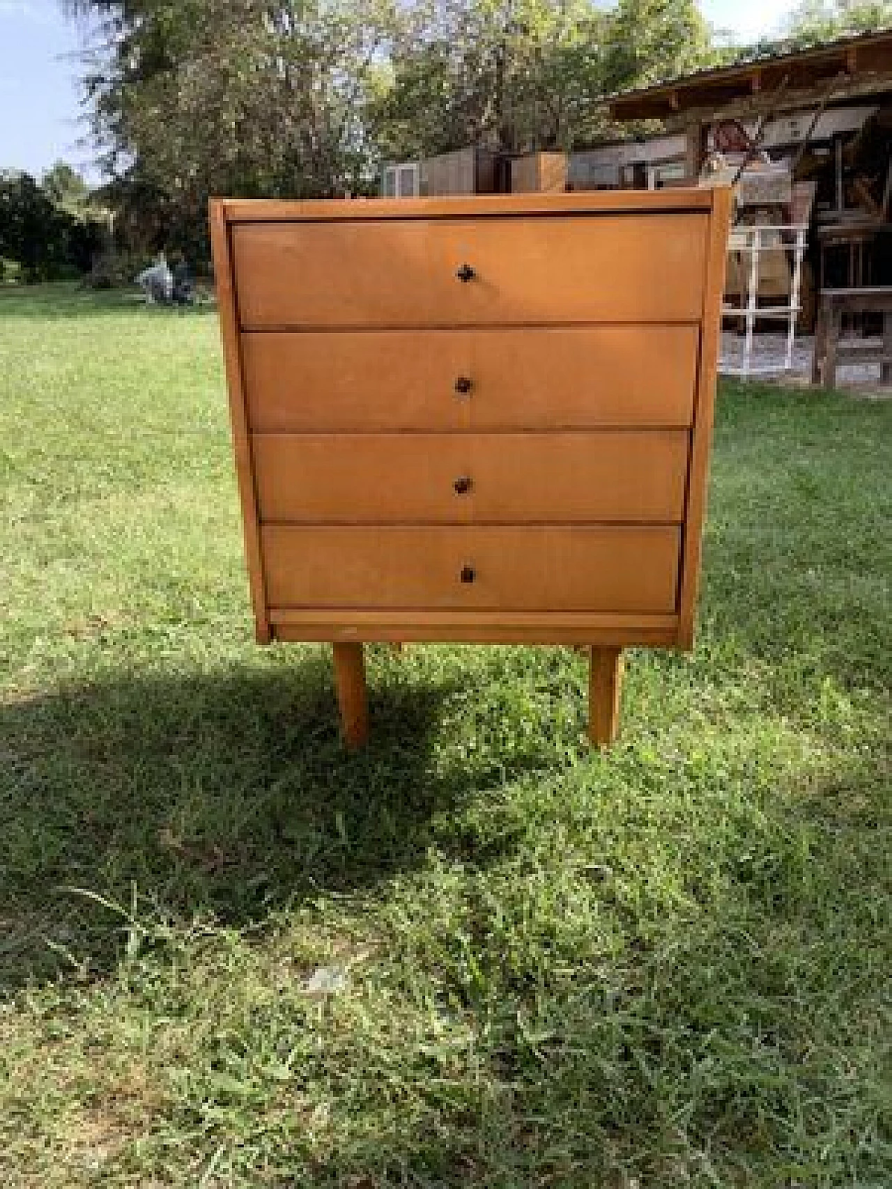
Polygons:
[[[365,109],[392,0],[82,0],[106,45],[86,78],[119,191],[175,233],[211,194],[332,196],[372,182]],[[168,235],[163,235],[168,238]]]

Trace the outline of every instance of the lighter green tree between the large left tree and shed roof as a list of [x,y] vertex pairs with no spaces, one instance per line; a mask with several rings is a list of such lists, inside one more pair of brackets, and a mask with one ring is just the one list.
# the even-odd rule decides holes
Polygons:
[[415,6],[376,108],[390,157],[486,140],[569,149],[604,127],[598,100],[714,61],[695,0],[442,0]]

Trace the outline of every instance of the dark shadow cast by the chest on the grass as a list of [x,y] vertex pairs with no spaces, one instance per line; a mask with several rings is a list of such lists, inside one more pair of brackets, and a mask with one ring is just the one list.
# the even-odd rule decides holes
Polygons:
[[0,988],[58,969],[68,939],[70,961],[87,944],[89,969],[108,969],[109,914],[71,888],[126,901],[133,886],[240,926],[416,866],[432,818],[490,779],[431,761],[450,692],[397,669],[372,687],[372,738],[356,754],[321,653],[282,672],[134,675],[0,706]]

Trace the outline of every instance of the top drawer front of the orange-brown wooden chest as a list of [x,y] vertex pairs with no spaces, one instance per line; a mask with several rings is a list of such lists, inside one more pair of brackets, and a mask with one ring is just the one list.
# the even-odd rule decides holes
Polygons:
[[[697,321],[705,214],[232,228],[244,329]],[[463,265],[473,269],[458,278]]]

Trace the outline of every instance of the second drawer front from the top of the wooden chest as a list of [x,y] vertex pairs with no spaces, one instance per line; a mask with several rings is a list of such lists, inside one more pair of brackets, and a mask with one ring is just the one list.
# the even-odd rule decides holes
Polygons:
[[696,326],[257,333],[241,358],[255,430],[586,429],[690,426],[698,342]]

